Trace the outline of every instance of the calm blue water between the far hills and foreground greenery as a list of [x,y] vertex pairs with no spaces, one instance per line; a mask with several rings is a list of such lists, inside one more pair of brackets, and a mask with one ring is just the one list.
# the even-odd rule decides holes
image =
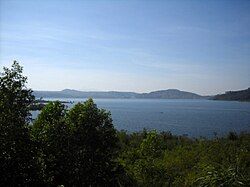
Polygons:
[[[55,99],[50,99],[55,100]],[[65,101],[65,99],[60,99]],[[67,99],[82,102],[86,99]],[[250,103],[210,100],[94,99],[111,111],[114,126],[129,132],[143,128],[213,137],[229,131],[250,131]],[[72,107],[74,104],[67,104]],[[38,112],[33,112],[33,117]]]

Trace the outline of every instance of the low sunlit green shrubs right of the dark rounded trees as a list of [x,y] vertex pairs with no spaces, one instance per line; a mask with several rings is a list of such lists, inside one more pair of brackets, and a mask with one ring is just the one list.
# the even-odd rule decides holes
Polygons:
[[[119,133],[126,148],[119,155],[138,186],[247,186],[250,178],[250,135],[227,138],[164,137],[164,133]],[[124,139],[125,134],[126,139]],[[233,138],[232,138],[233,137]],[[237,137],[237,138],[235,138]],[[170,145],[170,146],[169,146]]]

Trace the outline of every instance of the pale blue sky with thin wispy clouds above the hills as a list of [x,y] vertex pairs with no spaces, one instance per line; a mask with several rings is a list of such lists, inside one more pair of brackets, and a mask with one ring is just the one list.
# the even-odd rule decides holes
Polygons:
[[0,68],[33,90],[250,87],[250,1],[0,0]]

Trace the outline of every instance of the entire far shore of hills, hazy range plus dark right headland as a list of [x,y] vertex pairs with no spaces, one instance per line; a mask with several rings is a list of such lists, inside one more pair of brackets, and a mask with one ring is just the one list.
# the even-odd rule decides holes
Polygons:
[[167,89],[152,91],[149,93],[118,92],[118,91],[79,91],[64,89],[61,91],[34,91],[36,98],[60,98],[60,99],[205,99],[223,101],[250,101],[250,88],[239,91],[228,91],[224,94],[213,96],[202,96],[196,93],[181,91],[178,89]]

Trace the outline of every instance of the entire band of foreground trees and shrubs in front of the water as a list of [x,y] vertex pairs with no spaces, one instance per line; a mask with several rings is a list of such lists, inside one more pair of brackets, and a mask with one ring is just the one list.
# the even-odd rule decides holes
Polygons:
[[116,131],[92,99],[35,102],[14,62],[0,77],[0,186],[247,186],[250,134],[212,140]]

